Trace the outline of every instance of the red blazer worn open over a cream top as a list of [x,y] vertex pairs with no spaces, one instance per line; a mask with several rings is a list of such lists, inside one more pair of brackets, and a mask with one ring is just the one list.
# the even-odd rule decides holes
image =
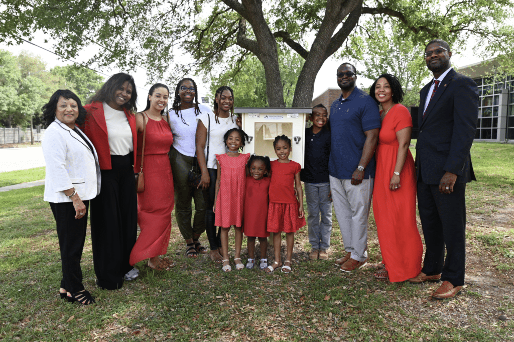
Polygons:
[[[93,146],[98,153],[98,161],[101,170],[111,170],[111,151],[109,150],[109,140],[107,138],[107,123],[103,114],[102,102],[93,102],[86,104],[84,108],[87,111],[86,119],[79,128],[93,142]],[[132,143],[134,145],[134,160],[136,160],[137,150],[137,134],[136,134],[136,116],[123,108],[123,112],[128,119],[128,124],[132,130]]]

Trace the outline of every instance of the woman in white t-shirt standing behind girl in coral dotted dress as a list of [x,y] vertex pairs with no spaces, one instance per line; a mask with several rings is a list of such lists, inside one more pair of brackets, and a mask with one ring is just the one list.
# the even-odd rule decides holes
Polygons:
[[[241,118],[234,115],[234,91],[229,86],[221,86],[214,96],[214,110],[204,113],[196,118],[196,157],[201,170],[199,188],[204,190],[204,201],[207,208],[205,215],[205,229],[211,248],[211,259],[216,262],[223,260],[218,249],[222,247],[220,232],[216,234],[214,226],[215,183],[217,178],[216,154],[227,152],[223,136],[231,128],[241,127]],[[209,129],[209,132],[207,128]],[[209,145],[209,149],[207,149]],[[207,153],[207,150],[209,153]]]

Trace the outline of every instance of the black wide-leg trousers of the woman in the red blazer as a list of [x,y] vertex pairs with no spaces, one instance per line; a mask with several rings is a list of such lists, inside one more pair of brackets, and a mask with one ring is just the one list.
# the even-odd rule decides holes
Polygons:
[[132,269],[128,259],[137,235],[137,194],[132,153],[111,155],[111,170],[101,170],[100,194],[91,200],[91,245],[97,285],[116,290]]

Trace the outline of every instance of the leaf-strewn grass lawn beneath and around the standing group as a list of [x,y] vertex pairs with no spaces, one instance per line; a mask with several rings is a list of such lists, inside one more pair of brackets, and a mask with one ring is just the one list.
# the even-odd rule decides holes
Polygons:
[[[117,291],[96,289],[88,232],[82,272],[86,289],[98,303],[81,307],[59,299],[59,244],[43,186],[2,192],[0,340],[512,341],[514,286],[507,285],[514,285],[514,254],[508,257],[514,248],[514,222],[501,227],[490,222],[496,214],[491,210],[511,206],[513,153],[512,145],[475,143],[473,167],[479,182],[467,188],[468,212],[473,215],[468,250],[474,254],[468,268],[474,267],[474,256],[480,257],[480,274],[501,277],[501,289],[493,293],[467,280],[462,295],[442,302],[430,299],[439,284],[376,281],[372,268],[342,274],[333,264],[343,255],[334,215],[331,259],[307,260],[304,227],[295,235],[289,275],[266,275],[258,267],[240,272],[233,267],[231,273],[223,273],[206,255],[186,258],[173,220],[167,256],[175,267],[156,272],[141,262],[140,276]],[[484,213],[475,213],[480,210]],[[233,232],[229,236],[233,255]],[[205,235],[200,241],[206,244]],[[246,241],[242,254],[246,262]],[[372,214],[369,254],[370,262],[380,261]],[[272,261],[271,249],[268,260]],[[504,268],[497,268],[499,264]],[[500,315],[506,320],[499,320]]]

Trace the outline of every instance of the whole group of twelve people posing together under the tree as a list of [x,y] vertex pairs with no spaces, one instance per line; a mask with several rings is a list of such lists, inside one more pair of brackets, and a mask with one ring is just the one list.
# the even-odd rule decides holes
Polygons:
[[[80,267],[89,203],[94,268],[101,289],[119,289],[123,281],[135,279],[139,271],[134,265],[145,259],[153,269],[173,266],[160,257],[167,252],[173,206],[187,257],[209,253],[212,261],[222,263],[223,271],[231,271],[228,233],[234,226],[236,269],[245,267],[245,233],[247,268],[254,267],[258,238],[260,268],[270,273],[280,267],[289,273],[294,233],[306,224],[301,181],[310,259],[328,259],[334,206],[346,251],[336,264],[345,272],[366,265],[373,195],[383,258],[375,277],[440,279],[444,282],[434,298],[460,293],[464,192],[465,184],[474,179],[469,150],[478,89],[451,68],[446,42],[431,41],[424,56],[434,81],[420,93],[416,161],[408,149],[412,120],[399,103],[403,91],[398,79],[381,75],[370,96],[355,86],[357,71],[350,63],[337,70],[342,94],[332,103],[329,118],[323,105],[313,108],[303,169],[289,160],[291,140],[284,135],[273,142],[277,160],[239,152],[247,135],[233,114],[234,92],[228,86],[217,89],[213,110],[198,103],[197,86],[189,78],[178,82],[169,111],[169,88],[157,83],[150,88],[145,109],[137,112],[134,79],[124,73],[109,78],[85,106],[71,91],[55,92],[43,107],[48,124],[43,139],[44,200],[50,202],[57,223],[61,298],[84,305],[95,302],[84,289]],[[444,85],[438,87],[439,83]],[[195,170],[201,176],[192,187],[188,177]],[[144,175],[144,191],[136,192],[134,173]],[[423,268],[416,192],[427,247]],[[210,252],[199,241],[204,231]],[[284,263],[281,232],[286,233]],[[270,233],[274,261],[268,265]]]

